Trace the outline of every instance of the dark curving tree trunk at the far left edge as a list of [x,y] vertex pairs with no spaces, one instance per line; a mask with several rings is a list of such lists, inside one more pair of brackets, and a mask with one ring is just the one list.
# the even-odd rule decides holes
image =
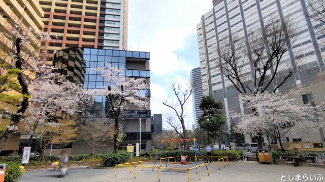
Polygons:
[[[22,70],[21,64],[22,64],[23,59],[21,59],[21,57],[20,57],[20,42],[21,42],[20,38],[17,38],[17,40],[15,41],[15,46],[16,46],[16,50],[17,50],[15,68]],[[29,99],[28,87],[27,87],[27,84],[23,78],[22,73],[18,73],[17,80],[21,86],[21,94],[24,95],[24,98],[23,98],[22,102],[20,103],[21,108],[18,109],[17,112],[11,116],[10,121],[13,123],[12,124],[13,126],[17,126],[19,124],[21,116],[25,113],[25,111],[28,107],[28,99]],[[14,133],[15,133],[15,130],[8,130],[8,129],[4,132],[4,134],[0,138],[0,151],[5,147],[8,140],[11,138],[11,136]]]

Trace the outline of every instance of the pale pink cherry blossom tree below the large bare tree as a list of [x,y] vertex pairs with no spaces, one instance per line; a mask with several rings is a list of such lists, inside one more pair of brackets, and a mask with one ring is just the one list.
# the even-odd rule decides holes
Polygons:
[[291,90],[289,94],[257,91],[254,95],[240,96],[247,108],[255,109],[251,114],[232,114],[240,120],[235,130],[251,136],[261,131],[268,133],[279,141],[283,150],[281,139],[286,133],[301,134],[306,128],[318,128],[313,119],[313,107],[296,102],[294,96],[298,93],[299,90]]

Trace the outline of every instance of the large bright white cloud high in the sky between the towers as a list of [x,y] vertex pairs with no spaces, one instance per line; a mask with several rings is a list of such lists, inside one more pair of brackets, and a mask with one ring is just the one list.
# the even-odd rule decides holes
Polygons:
[[157,75],[189,71],[193,66],[174,52],[197,33],[200,17],[211,8],[210,0],[129,1],[128,49],[150,52],[150,70]]

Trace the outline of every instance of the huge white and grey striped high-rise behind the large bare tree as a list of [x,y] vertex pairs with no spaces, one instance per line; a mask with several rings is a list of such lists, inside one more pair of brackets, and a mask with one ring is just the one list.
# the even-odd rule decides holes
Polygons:
[[[239,102],[237,89],[218,68],[222,60],[216,50],[220,50],[220,42],[224,38],[234,42],[234,36],[229,35],[249,41],[250,33],[262,25],[266,26],[271,17],[281,22],[293,21],[298,30],[295,36],[299,38],[294,38],[297,39],[295,42],[288,42],[288,45],[292,46],[288,48],[282,60],[287,62],[289,67],[297,67],[299,60],[300,66],[293,78],[288,79],[279,88],[280,92],[309,81],[325,70],[325,48],[319,47],[325,36],[315,34],[315,29],[324,25],[305,16],[310,13],[307,0],[214,0],[213,5],[213,9],[204,14],[201,23],[197,25],[202,86],[203,94],[212,94],[215,99],[222,101],[223,113],[228,118],[228,128],[231,125],[230,109],[246,112],[243,103]],[[247,70],[248,75],[252,73],[249,63],[244,65],[243,70]],[[281,75],[276,76],[279,78]]]

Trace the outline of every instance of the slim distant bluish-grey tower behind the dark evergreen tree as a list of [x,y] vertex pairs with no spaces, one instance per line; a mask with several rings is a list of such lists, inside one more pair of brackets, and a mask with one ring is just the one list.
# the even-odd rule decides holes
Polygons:
[[193,83],[192,102],[195,127],[200,127],[198,120],[203,111],[199,108],[203,97],[202,79],[200,67],[191,70],[191,82]]

